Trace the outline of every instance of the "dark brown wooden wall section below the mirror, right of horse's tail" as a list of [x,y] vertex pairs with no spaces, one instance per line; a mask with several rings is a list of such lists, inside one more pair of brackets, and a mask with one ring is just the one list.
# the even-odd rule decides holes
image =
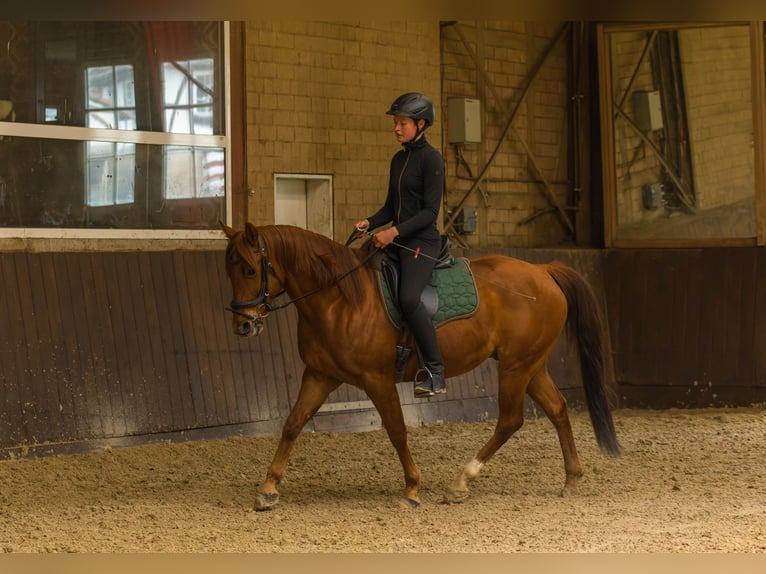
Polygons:
[[766,401],[763,249],[620,249],[606,261],[615,378],[626,404]]

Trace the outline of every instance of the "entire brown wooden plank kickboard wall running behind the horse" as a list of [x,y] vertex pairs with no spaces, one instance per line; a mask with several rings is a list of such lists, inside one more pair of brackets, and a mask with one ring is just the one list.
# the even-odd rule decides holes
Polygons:
[[[586,274],[608,311],[623,405],[766,401],[763,250],[506,252]],[[296,396],[295,311],[273,314],[261,337],[232,335],[221,252],[1,253],[0,281],[0,450],[206,429],[273,433]],[[550,368],[575,403],[576,365],[562,339]],[[492,360],[435,400],[400,385],[414,422],[493,418],[495,390]],[[342,387],[312,428],[370,428],[377,419],[365,401]]]

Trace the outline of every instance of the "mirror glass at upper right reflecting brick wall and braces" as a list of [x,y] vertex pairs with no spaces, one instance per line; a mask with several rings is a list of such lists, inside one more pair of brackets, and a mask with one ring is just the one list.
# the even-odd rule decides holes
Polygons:
[[603,29],[605,205],[614,241],[757,236],[761,104],[753,94],[762,75],[753,77],[753,30]]

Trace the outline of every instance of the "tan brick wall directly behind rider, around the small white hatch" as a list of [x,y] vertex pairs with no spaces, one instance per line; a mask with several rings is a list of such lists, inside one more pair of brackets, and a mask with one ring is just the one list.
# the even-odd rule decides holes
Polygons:
[[[439,23],[247,23],[248,220],[274,221],[274,173],[333,176],[337,240],[385,198],[399,149],[391,102],[431,96],[440,117]],[[441,149],[441,122],[428,137]]]

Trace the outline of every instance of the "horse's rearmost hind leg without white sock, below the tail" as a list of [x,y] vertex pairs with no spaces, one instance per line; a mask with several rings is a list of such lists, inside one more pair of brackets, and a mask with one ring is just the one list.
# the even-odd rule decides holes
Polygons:
[[545,367],[532,377],[527,392],[540,405],[540,408],[543,409],[545,415],[556,428],[559,444],[561,445],[561,453],[564,455],[564,470],[566,471],[566,482],[564,483],[561,495],[573,494],[580,477],[582,477],[582,466],[580,465],[580,458],[577,456],[577,448],[575,447],[574,435],[572,434],[572,425],[569,422],[566,399],[556,388],[548,373],[548,369]]

